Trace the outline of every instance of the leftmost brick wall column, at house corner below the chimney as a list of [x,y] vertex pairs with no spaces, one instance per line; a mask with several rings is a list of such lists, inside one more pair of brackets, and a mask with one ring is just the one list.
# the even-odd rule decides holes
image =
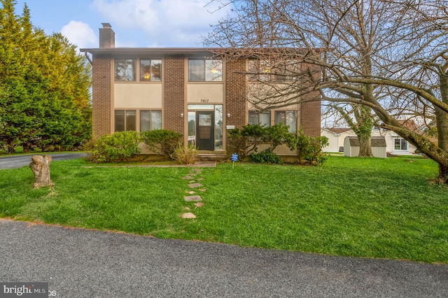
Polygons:
[[92,136],[111,134],[111,59],[95,58],[92,63]]

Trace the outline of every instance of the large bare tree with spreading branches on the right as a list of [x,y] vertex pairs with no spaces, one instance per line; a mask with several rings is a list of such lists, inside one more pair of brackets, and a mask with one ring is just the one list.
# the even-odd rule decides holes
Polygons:
[[[220,53],[227,59],[263,57],[269,52],[269,61],[280,61],[288,49],[295,49],[289,60],[302,65],[276,71],[275,76],[294,80],[273,84],[271,92],[251,95],[253,99],[291,104],[318,90],[318,100],[365,106],[383,127],[435,160],[440,170],[437,181],[448,183],[446,0],[221,3],[233,6],[233,15],[213,27],[204,38],[206,45],[227,48]],[[322,76],[316,75],[316,66]],[[400,122],[411,118],[426,122],[427,117],[437,127],[437,141]]]

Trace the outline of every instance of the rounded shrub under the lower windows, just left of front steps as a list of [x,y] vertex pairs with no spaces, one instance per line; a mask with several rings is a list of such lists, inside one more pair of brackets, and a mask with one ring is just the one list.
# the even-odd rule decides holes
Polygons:
[[177,148],[179,142],[182,141],[181,134],[167,129],[141,132],[140,137],[148,150],[167,157],[171,157],[174,149]]

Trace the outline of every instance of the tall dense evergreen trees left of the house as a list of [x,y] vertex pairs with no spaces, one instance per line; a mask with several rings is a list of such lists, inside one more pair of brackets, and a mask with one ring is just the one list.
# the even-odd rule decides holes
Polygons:
[[91,135],[90,65],[61,34],[46,36],[25,4],[0,0],[0,146],[71,150]]

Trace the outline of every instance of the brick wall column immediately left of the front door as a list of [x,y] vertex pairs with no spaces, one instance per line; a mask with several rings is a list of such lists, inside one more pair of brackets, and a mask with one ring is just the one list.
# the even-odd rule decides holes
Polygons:
[[[164,123],[165,129],[184,133],[183,118],[185,113],[185,57],[183,55],[165,57],[164,66]],[[184,115],[186,117],[186,115]]]

